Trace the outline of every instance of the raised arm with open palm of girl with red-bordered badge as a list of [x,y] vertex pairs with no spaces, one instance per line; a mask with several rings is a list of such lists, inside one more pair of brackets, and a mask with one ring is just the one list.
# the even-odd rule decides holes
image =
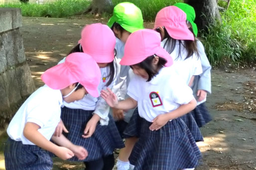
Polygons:
[[113,93],[110,88],[107,88],[108,91],[102,90],[101,91],[101,97],[107,102],[107,104],[116,109],[123,109],[123,110],[128,110],[128,109],[133,109],[137,106],[137,101],[135,101],[132,98],[127,98],[126,100],[118,102],[118,98]]

